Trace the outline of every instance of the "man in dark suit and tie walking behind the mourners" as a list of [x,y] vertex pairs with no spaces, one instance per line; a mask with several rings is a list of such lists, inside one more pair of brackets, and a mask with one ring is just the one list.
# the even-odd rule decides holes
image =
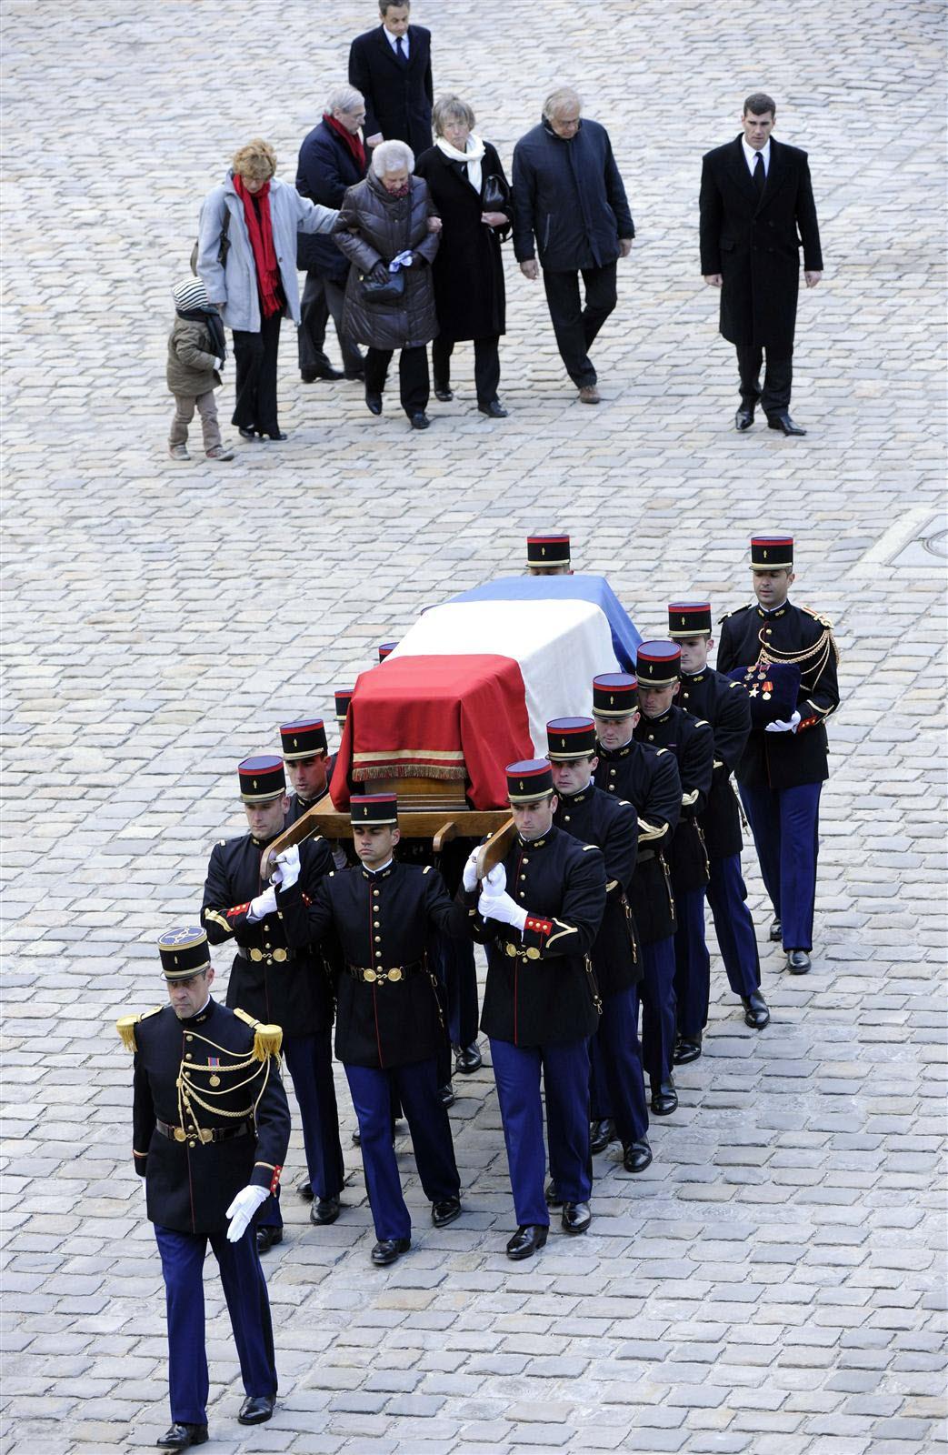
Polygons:
[[349,83],[365,96],[365,140],[404,141],[414,156],[432,146],[432,32],[410,25],[411,6],[379,0],[382,23],[358,35]]

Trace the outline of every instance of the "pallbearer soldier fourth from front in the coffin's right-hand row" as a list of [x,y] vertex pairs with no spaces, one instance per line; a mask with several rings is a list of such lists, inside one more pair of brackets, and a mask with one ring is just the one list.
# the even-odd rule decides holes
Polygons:
[[[635,738],[654,748],[667,748],[678,760],[682,780],[682,813],[672,841],[672,888],[678,905],[675,930],[675,1020],[676,1037],[682,1020],[679,988],[691,1001],[691,986],[701,981],[708,963],[704,937],[704,895],[708,883],[708,854],[698,815],[708,802],[714,774],[711,726],[675,706],[679,691],[682,652],[676,642],[641,642],[635,658],[640,720]],[[675,1059],[675,1052],[672,1052]],[[670,1074],[672,1067],[667,1067]],[[669,1080],[670,1075],[669,1075]]]

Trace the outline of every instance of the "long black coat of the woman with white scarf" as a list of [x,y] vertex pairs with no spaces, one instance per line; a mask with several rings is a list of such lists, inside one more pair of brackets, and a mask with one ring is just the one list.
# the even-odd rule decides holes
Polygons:
[[452,162],[439,147],[422,153],[414,173],[427,182],[442,221],[441,247],[432,266],[439,336],[459,340],[505,333],[500,243],[509,227],[481,223],[484,180],[491,175],[507,180],[496,147],[484,143],[481,192],[468,182],[464,163]]

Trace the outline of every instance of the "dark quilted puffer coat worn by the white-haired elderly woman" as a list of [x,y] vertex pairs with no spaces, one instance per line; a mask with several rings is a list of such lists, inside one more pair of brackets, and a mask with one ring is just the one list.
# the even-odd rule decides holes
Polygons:
[[[438,333],[430,263],[441,237],[427,231],[436,217],[427,183],[411,178],[409,196],[391,196],[372,173],[346,192],[336,224],[336,242],[350,262],[346,279],[343,330],[372,349],[414,349]],[[388,265],[407,247],[414,253],[404,269],[406,288],[394,303],[363,300],[361,275]]]

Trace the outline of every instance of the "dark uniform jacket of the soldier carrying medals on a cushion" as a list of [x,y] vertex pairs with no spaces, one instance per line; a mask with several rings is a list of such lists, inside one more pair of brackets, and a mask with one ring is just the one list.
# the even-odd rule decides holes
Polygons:
[[736,778],[749,789],[795,789],[803,783],[823,783],[829,777],[826,719],[839,707],[836,646],[832,624],[807,607],[790,601],[775,611],[752,604],[721,618],[718,672],[753,666],[760,650],[807,653],[800,672],[797,732],[763,732],[755,728],[747,738]]

